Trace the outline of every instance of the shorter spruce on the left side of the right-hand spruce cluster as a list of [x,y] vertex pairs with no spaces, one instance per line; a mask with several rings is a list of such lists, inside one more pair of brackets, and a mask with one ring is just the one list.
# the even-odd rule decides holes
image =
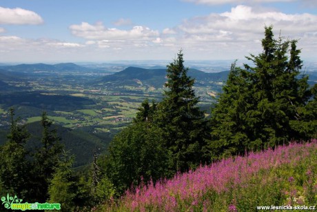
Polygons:
[[246,74],[234,62],[223,93],[212,108],[212,141],[209,146],[212,147],[210,154],[213,159],[243,152],[249,144],[245,114],[252,108],[253,99],[245,80]]

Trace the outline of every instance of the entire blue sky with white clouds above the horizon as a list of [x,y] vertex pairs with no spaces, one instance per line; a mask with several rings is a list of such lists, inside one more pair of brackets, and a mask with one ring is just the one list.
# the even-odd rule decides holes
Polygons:
[[243,59],[271,24],[317,59],[315,0],[0,0],[0,62]]

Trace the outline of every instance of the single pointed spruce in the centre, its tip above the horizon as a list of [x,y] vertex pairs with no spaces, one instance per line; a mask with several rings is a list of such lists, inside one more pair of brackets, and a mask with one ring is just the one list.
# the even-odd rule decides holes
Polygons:
[[164,141],[172,152],[174,171],[187,171],[205,163],[203,147],[207,122],[198,108],[195,96],[195,79],[187,76],[183,52],[167,66],[167,83],[164,98],[157,106],[155,122],[163,130]]

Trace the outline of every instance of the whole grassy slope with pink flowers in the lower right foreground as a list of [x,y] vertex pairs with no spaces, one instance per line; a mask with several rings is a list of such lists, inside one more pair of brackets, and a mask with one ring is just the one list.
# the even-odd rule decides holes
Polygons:
[[317,140],[222,160],[128,192],[100,211],[256,211],[312,206],[317,200]]

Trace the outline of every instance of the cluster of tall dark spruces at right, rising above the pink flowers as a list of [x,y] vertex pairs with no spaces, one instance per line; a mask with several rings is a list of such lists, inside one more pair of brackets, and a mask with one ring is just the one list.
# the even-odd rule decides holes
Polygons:
[[274,39],[265,27],[263,52],[246,57],[254,64],[232,66],[223,93],[212,111],[214,155],[273,147],[316,135],[312,90],[300,76],[303,61],[296,40]]

